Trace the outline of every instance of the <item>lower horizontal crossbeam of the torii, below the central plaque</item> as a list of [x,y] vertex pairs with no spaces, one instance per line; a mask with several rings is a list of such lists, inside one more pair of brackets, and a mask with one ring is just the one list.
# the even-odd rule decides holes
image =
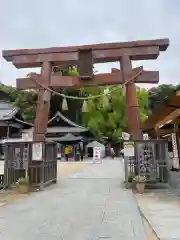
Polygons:
[[[137,68],[138,69],[138,68]],[[133,75],[136,75],[139,71],[137,69],[133,70]],[[43,85],[43,79],[40,74],[33,73],[31,77],[36,79],[40,84]],[[39,88],[39,85],[30,77],[18,78],[16,80],[16,86],[20,89],[33,89]],[[159,72],[157,71],[143,71],[136,79],[136,83],[158,83],[159,82]],[[73,76],[61,76],[52,75],[50,87],[65,87],[65,88],[79,88],[79,87],[90,87],[90,86],[103,86],[103,85],[118,85],[122,84],[121,72],[117,73],[104,73],[94,75],[92,80],[83,81],[79,77]]]

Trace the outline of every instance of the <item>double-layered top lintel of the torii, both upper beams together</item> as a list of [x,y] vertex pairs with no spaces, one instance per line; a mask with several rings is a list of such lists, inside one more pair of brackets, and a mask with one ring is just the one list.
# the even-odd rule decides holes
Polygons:
[[115,62],[124,55],[131,60],[156,59],[160,51],[169,46],[169,39],[141,40],[132,42],[102,43],[84,46],[53,47],[41,49],[4,50],[3,57],[17,68],[40,67],[42,62],[70,63],[79,61],[79,51],[92,51],[94,63]]

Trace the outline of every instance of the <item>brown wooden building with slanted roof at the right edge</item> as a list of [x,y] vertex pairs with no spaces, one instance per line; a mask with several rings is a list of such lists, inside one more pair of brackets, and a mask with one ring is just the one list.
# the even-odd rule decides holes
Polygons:
[[[173,91],[164,101],[157,105],[152,114],[142,124],[142,130],[152,138],[168,139],[169,184],[175,194],[180,196],[180,91]],[[174,140],[172,138],[174,135]],[[177,152],[174,152],[174,148]]]

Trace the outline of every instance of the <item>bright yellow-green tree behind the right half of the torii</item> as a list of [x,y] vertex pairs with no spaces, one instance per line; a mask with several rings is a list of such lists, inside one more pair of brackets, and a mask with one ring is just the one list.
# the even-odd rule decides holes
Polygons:
[[[114,87],[113,87],[114,88]],[[111,91],[112,87],[110,87]],[[91,89],[90,95],[103,94],[104,88]],[[139,99],[140,118],[144,121],[149,113],[148,92],[137,88]],[[108,97],[109,103],[105,105],[104,97],[88,101],[88,112],[84,116],[84,124],[100,139],[102,136],[117,140],[122,132],[127,130],[127,104],[124,90],[118,88]]]

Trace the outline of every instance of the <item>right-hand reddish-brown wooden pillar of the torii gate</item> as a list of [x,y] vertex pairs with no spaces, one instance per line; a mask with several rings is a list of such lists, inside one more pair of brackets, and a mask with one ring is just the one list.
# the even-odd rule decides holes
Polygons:
[[[120,58],[122,78],[125,82],[126,79],[131,77],[132,64],[129,56],[123,56]],[[140,129],[140,111],[139,103],[136,94],[136,86],[134,81],[130,81],[126,85],[126,101],[128,108],[128,131],[132,135],[133,140],[141,139]]]

